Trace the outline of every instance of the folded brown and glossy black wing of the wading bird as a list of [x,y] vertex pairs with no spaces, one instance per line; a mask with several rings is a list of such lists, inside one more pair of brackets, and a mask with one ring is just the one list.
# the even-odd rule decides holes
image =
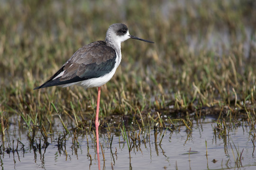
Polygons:
[[54,76],[35,89],[104,76],[114,68],[116,57],[115,50],[106,42],[91,42],[76,51]]

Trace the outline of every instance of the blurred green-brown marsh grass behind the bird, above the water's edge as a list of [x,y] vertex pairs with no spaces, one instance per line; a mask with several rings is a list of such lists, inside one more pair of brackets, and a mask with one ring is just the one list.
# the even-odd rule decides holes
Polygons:
[[255,114],[255,16],[255,0],[0,0],[1,124],[16,115],[20,125],[49,128],[58,113],[67,126],[90,126],[97,88],[33,88],[113,23],[155,44],[122,43],[122,62],[102,87],[101,126]]

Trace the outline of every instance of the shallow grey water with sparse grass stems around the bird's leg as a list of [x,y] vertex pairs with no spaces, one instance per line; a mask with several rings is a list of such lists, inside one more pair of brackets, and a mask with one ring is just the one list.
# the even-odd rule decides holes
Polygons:
[[[237,167],[248,170],[256,169],[255,148],[251,141],[253,136],[250,135],[249,128],[245,126],[235,127],[229,132],[229,136],[219,138],[214,136],[212,128],[214,126],[216,126],[216,123],[211,122],[211,119],[206,119],[200,124],[194,124],[191,133],[186,132],[186,127],[180,127],[179,131],[173,132],[167,130],[161,145],[159,145],[159,141],[164,131],[158,132],[155,144],[154,130],[152,129],[150,130],[150,137],[145,137],[145,142],[141,141],[140,144],[137,142],[132,146],[130,157],[127,143],[123,142],[122,136],[114,135],[111,153],[110,141],[107,135],[100,134],[100,142],[105,156],[105,160],[103,160],[100,151],[101,169],[109,170],[112,168],[111,166],[114,170],[138,170],[142,167],[168,170],[175,170],[176,168],[179,170],[237,169]],[[16,134],[18,132],[17,128],[11,129],[12,127],[13,125],[9,128],[11,136],[13,131]],[[61,133],[61,130],[59,133]],[[38,134],[40,136],[40,133]],[[37,143],[39,143],[38,136],[36,136]],[[40,153],[38,149],[30,148],[27,131],[19,131],[18,135],[13,137],[15,140],[14,148],[17,145],[17,138],[19,138],[25,144],[24,153],[20,144],[18,153],[4,151],[0,154],[1,169],[98,169],[93,134],[88,134],[89,148],[87,148],[86,135],[77,137],[78,145],[73,145],[72,137],[68,136],[66,138],[67,154],[64,153],[64,146],[63,150],[58,149],[56,142],[58,135],[52,136],[51,140],[48,140],[50,142],[49,146],[42,149]],[[12,137],[9,138],[7,137],[7,141],[12,141]],[[143,135],[141,135],[142,138]],[[208,156],[206,156],[205,141],[207,141]],[[5,144],[8,146],[8,142]],[[11,142],[9,144],[12,145]],[[241,162],[236,162],[241,153]],[[91,155],[91,158],[89,155]]]

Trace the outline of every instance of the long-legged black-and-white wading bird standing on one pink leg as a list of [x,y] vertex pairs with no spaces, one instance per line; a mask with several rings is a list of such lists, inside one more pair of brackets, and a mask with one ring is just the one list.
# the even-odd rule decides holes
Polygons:
[[84,88],[98,87],[95,119],[98,155],[101,85],[107,83],[116,72],[121,62],[121,42],[129,38],[154,43],[130,35],[127,26],[124,24],[112,24],[107,31],[105,41],[91,42],[81,47],[46,83],[35,88],[40,89],[55,85],[62,87],[71,85],[79,85]]

